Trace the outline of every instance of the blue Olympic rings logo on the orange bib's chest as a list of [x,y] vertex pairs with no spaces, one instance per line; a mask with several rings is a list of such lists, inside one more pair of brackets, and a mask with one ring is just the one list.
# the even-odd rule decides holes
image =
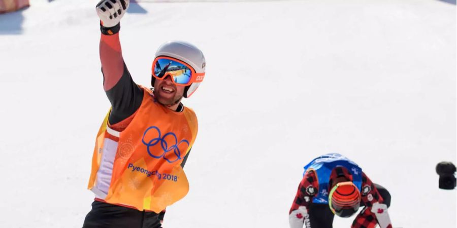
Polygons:
[[[145,139],[150,138],[150,137],[146,137],[146,134],[149,131],[152,131],[153,133],[150,133],[148,136],[153,134],[154,136],[157,136],[157,137],[152,138],[150,140],[145,140]],[[156,133],[156,134],[154,134],[154,133]],[[155,127],[155,126],[152,126],[152,127],[149,127],[148,129],[146,129],[141,141],[143,142],[143,144],[145,144],[147,146],[147,151],[148,151],[149,156],[151,156],[152,158],[156,158],[156,159],[164,158],[169,163],[173,163],[178,160],[181,160],[181,150],[179,149],[179,146],[181,145],[181,143],[187,144],[185,149],[187,149],[190,145],[189,141],[187,141],[185,139],[178,142],[178,138],[176,137],[175,133],[173,133],[173,132],[169,132],[169,133],[165,134],[164,136],[162,136],[160,133],[160,129],[158,129],[158,127]],[[151,151],[151,147],[155,146],[157,144],[159,144],[162,149],[162,153],[160,155],[153,154]],[[155,151],[157,151],[157,149],[155,149]],[[169,153],[171,151],[173,151],[172,154]],[[173,154],[176,156],[176,158],[174,158]]]

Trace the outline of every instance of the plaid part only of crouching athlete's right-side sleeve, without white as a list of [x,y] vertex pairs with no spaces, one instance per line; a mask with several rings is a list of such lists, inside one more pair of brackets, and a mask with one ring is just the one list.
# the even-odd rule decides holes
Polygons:
[[378,221],[376,215],[371,212],[371,207],[374,203],[378,202],[382,204],[383,199],[376,189],[376,186],[370,180],[370,178],[362,173],[362,202],[365,204],[365,208],[355,217],[352,222],[352,228],[374,228]]

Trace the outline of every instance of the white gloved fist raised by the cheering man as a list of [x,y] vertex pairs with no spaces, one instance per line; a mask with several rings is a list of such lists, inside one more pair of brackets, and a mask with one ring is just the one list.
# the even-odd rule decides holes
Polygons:
[[128,9],[129,0],[102,0],[95,7],[104,27],[114,27]]

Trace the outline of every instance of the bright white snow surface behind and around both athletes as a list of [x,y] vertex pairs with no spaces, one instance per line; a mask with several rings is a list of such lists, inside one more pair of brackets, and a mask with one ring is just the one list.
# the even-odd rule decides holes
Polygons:
[[[81,227],[94,137],[109,108],[97,1],[31,0],[0,15],[0,227]],[[207,76],[189,194],[165,227],[287,227],[311,159],[332,151],[392,195],[394,227],[455,227],[455,5],[433,0],[138,1],[122,20],[134,80],[167,40]],[[335,227],[352,219],[335,218]]]

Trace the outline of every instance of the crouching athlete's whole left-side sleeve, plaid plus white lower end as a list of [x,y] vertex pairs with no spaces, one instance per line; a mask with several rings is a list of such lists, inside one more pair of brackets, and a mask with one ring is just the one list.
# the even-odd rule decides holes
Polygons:
[[[318,182],[314,171],[306,172],[297,189],[297,194],[289,210],[290,228],[310,228],[309,205],[319,191]],[[305,225],[305,226],[303,226]]]

